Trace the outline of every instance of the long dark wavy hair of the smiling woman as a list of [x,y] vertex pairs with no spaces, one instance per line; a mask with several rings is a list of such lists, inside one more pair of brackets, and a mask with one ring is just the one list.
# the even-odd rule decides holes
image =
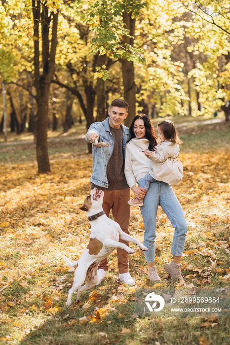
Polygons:
[[[131,138],[128,140],[130,141],[132,138],[135,138],[135,134],[134,134],[134,131],[133,131],[133,125],[134,125],[134,122],[138,119],[141,119],[144,121],[144,126],[145,126],[145,129],[146,129],[146,138],[150,141],[150,144],[149,144],[149,150],[150,151],[155,151],[155,146],[157,144],[156,142],[156,135],[155,135],[155,131],[154,131],[154,128],[153,128],[153,125],[150,121],[150,118],[148,115],[146,114],[138,114],[134,117],[132,123],[131,123],[131,126],[129,128],[129,132],[130,132],[130,136]],[[128,142],[127,141],[127,142]]]

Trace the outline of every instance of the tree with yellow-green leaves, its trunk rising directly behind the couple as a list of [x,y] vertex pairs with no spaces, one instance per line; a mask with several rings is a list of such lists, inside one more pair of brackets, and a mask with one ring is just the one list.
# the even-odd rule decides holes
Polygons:
[[[123,98],[129,104],[126,125],[129,125],[136,115],[134,62],[145,61],[141,50],[134,46],[135,22],[144,6],[145,1],[97,0],[91,4],[86,20],[95,34],[92,51],[100,56],[109,55],[109,66],[116,61],[121,63]],[[108,65],[98,67],[96,76],[105,80],[109,78]]]

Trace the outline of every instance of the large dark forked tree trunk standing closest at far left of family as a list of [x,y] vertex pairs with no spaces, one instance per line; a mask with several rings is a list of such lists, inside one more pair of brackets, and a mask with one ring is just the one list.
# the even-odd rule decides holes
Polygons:
[[[37,142],[36,152],[38,161],[38,173],[50,172],[47,123],[48,123],[48,101],[49,89],[55,67],[55,55],[57,47],[57,24],[58,11],[50,12],[48,7],[40,0],[32,0],[34,17],[34,67],[35,87],[37,93]],[[52,22],[52,25],[51,25]],[[42,46],[42,72],[40,72],[39,57],[39,23],[41,24],[41,46]],[[52,28],[52,29],[51,29]],[[52,30],[51,45],[49,41],[49,30]]]

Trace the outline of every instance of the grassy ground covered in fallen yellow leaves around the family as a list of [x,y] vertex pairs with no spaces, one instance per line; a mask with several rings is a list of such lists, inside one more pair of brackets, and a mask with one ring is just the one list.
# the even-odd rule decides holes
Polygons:
[[[181,138],[184,178],[174,190],[189,225],[183,275],[188,286],[229,287],[229,126],[190,126]],[[135,290],[154,286],[142,251],[132,244],[135,287],[117,281],[114,252],[108,279],[65,307],[74,270],[62,254],[76,259],[88,242],[89,222],[78,207],[90,191],[92,156],[79,138],[49,146],[52,172],[41,175],[33,144],[0,147],[0,343],[228,344],[227,317],[137,317]],[[139,207],[132,207],[130,232],[143,241]],[[163,264],[171,260],[172,236],[159,208],[156,266],[165,287],[171,284]]]

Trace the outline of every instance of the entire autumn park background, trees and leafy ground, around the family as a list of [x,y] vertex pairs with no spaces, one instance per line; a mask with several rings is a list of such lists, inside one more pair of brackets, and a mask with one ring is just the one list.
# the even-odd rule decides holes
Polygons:
[[[89,125],[114,98],[153,125],[165,116],[184,143],[174,190],[189,224],[188,286],[229,296],[229,1],[0,1],[0,343],[228,344],[229,318],[139,318],[135,289],[110,276],[79,305],[62,254],[78,257],[89,224],[78,209],[90,190]],[[4,142],[6,141],[7,142]],[[139,209],[130,231],[143,241]],[[170,260],[172,228],[157,215],[156,265]],[[137,287],[153,287],[141,251]]]

